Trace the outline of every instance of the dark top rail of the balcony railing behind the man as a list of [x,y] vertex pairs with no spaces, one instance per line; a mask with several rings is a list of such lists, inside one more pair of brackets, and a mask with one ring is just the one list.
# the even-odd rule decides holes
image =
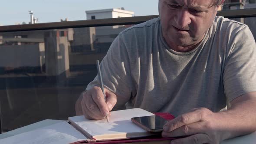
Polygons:
[[[243,9],[243,10],[219,11],[217,13],[217,16],[224,16],[226,18],[255,17],[256,8]],[[78,28],[78,27],[92,27],[92,26],[129,25],[129,24],[143,23],[147,20],[151,20],[156,17],[158,17],[158,15],[0,26],[0,32],[43,30],[43,29],[63,29],[63,28]]]

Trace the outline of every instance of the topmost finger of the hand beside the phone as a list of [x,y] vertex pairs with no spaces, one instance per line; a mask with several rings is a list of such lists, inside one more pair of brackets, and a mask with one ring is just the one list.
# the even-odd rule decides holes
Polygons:
[[195,110],[183,115],[178,116],[177,118],[174,118],[173,120],[169,121],[167,124],[164,125],[164,131],[170,132],[177,128],[180,128],[181,126],[184,126],[186,124],[192,124],[197,121],[200,121],[202,118],[201,112],[199,110]]

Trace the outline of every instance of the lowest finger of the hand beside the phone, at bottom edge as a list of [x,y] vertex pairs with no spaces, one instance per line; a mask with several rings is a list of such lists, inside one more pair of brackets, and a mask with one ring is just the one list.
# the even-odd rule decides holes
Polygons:
[[207,134],[195,134],[189,137],[172,140],[171,144],[209,144],[210,138]]

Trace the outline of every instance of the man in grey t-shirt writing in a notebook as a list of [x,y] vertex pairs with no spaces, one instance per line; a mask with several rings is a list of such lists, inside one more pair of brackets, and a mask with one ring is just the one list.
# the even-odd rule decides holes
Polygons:
[[[77,115],[102,119],[115,108],[169,112],[163,137],[218,144],[256,131],[256,44],[248,26],[221,16],[222,0],[159,0],[160,17],[121,32]],[[221,111],[228,104],[226,111]]]

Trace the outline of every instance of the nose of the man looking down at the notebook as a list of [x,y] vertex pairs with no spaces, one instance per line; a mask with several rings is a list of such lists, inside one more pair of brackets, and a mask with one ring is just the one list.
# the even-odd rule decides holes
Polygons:
[[180,10],[176,15],[176,24],[178,28],[184,28],[191,23],[190,13],[188,10]]

